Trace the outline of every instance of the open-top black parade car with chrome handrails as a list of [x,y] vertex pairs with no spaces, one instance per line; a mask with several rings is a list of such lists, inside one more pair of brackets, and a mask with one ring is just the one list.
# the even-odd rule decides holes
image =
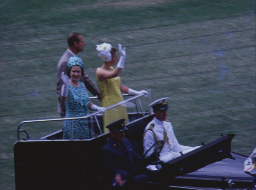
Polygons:
[[[153,118],[151,111],[143,112],[137,95],[116,105],[134,101],[141,111],[128,113],[130,122],[126,132],[134,151],[143,154],[143,132]],[[136,100],[136,101],[135,101]],[[23,121],[17,130],[18,141],[14,144],[14,164],[16,190],[38,189],[93,189],[110,190],[113,178],[105,175],[101,163],[101,149],[109,138],[102,134],[102,115],[98,112],[83,117],[89,120],[94,133],[91,139],[63,140],[62,130],[45,137],[34,139],[21,129],[25,123],[60,121],[65,118],[49,120]],[[72,118],[77,119],[77,118]],[[26,133],[26,139],[20,139],[20,133]],[[168,190],[223,190],[255,189],[255,174],[244,172],[247,156],[230,152],[231,140],[235,134],[216,137],[216,140],[203,144],[192,152],[181,155],[169,163],[161,163],[163,183],[149,183],[126,180],[121,189],[168,189]]]

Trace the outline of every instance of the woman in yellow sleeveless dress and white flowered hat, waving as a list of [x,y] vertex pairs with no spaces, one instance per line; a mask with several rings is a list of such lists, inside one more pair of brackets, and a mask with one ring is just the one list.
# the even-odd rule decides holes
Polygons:
[[[97,45],[98,56],[103,60],[103,65],[96,70],[96,80],[98,88],[101,94],[101,106],[108,107],[123,99],[121,92],[129,95],[147,95],[147,91],[136,91],[132,90],[121,83],[120,73],[124,68],[126,51],[125,47],[122,48],[121,44],[118,45],[119,53],[121,54],[120,59],[118,58],[117,50],[112,48],[109,43],[103,43]],[[117,63],[115,69],[112,67]],[[107,110],[103,114],[104,133],[108,132],[107,125],[119,120],[125,119],[125,123],[129,122],[129,118],[126,111],[125,105],[116,106],[110,110]]]

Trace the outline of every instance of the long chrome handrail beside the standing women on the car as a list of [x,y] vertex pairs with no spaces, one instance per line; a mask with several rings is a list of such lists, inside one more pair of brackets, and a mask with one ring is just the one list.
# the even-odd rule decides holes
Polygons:
[[[126,94],[124,94],[124,95],[126,96]],[[137,98],[139,99],[139,97],[144,96],[144,95],[145,95],[145,94],[143,93],[143,94],[139,94],[139,95],[136,95],[136,96],[132,96],[132,97],[126,99],[126,100],[122,100],[122,101],[120,101],[120,102],[117,102],[116,104],[113,104],[113,105],[111,105],[111,106],[106,107],[106,110],[109,110],[109,109],[111,109],[111,108],[113,108],[113,107],[122,105],[122,104],[124,104],[124,103],[126,103],[126,102],[129,102],[129,101],[131,101],[131,100],[134,100],[134,99],[137,99]],[[142,113],[143,113],[142,107],[141,107],[141,111],[142,111]],[[64,120],[78,120],[78,119],[86,119],[86,118],[88,118],[88,117],[92,117],[92,116],[97,115],[97,114],[100,114],[100,111],[96,111],[96,112],[93,112],[93,113],[91,113],[91,114],[88,114],[88,115],[82,116],[82,117],[70,117],[70,118],[57,118],[57,119],[22,121],[22,122],[20,122],[20,124],[19,124],[19,126],[18,126],[18,129],[17,129],[17,139],[18,139],[18,141],[20,141],[20,131],[22,130],[22,129],[20,129],[20,127],[21,127],[24,123],[37,123],[37,122],[47,122],[47,121],[64,121]],[[143,116],[144,116],[144,113],[143,113]],[[22,131],[23,131],[23,130],[22,130]]]

